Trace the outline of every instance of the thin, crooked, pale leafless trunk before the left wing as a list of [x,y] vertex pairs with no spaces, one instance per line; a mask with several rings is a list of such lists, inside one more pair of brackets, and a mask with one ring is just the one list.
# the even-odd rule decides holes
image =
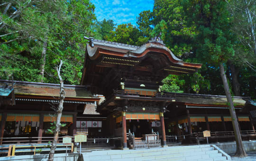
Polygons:
[[54,160],[54,153],[57,145],[57,141],[59,138],[59,132],[60,132],[60,120],[61,120],[61,115],[62,115],[62,110],[63,110],[63,103],[64,103],[64,98],[65,98],[65,91],[64,91],[64,83],[60,75],[60,69],[61,69],[62,61],[60,62],[59,69],[57,69],[58,72],[58,77],[60,79],[60,101],[59,101],[59,106],[57,109],[57,120],[56,120],[56,128],[55,128],[55,133],[54,133],[54,140],[51,146],[51,150],[49,153],[49,158],[48,161],[53,161]]

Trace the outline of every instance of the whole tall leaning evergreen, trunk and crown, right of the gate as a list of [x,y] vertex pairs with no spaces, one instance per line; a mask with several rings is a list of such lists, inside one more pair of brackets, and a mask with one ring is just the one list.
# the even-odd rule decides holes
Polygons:
[[196,54],[207,61],[219,66],[220,76],[229,103],[229,112],[237,142],[237,156],[246,156],[238,126],[234,104],[229,89],[224,66],[234,55],[234,34],[231,32],[231,14],[227,9],[227,2],[223,0],[184,0],[187,15],[191,16],[189,24],[194,24],[198,34],[194,36]]

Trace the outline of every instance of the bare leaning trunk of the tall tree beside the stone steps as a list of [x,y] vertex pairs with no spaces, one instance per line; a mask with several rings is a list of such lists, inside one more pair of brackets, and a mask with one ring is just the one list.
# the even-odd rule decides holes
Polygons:
[[229,112],[230,112],[230,116],[232,119],[232,125],[234,128],[234,132],[235,132],[235,138],[236,138],[236,142],[237,142],[237,151],[235,156],[239,156],[239,157],[244,157],[247,156],[244,147],[243,147],[243,143],[242,143],[242,138],[241,138],[241,134],[240,134],[240,130],[239,130],[239,125],[238,125],[238,118],[236,116],[236,111],[235,111],[235,107],[232,101],[232,97],[229,91],[229,84],[228,84],[228,80],[224,71],[224,67],[222,63],[219,63],[219,71],[220,71],[220,77],[222,79],[223,82],[223,86],[224,86],[224,90],[226,93],[226,97],[228,100],[228,104],[229,104]]

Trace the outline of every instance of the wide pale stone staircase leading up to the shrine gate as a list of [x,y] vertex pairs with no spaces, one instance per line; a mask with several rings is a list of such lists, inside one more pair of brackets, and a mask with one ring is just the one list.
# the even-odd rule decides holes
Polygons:
[[83,152],[82,161],[231,161],[216,145]]

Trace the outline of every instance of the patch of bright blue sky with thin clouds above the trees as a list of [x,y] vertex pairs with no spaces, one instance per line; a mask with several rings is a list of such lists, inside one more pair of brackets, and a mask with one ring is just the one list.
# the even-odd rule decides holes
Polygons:
[[141,11],[153,9],[154,0],[91,0],[99,21],[113,19],[114,23],[136,25],[136,17]]

